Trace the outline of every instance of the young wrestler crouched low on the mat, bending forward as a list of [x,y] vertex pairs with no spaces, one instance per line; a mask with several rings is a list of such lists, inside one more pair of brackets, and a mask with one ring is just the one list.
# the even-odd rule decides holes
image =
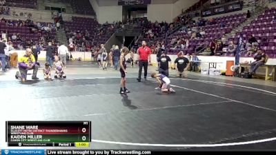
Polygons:
[[166,75],[154,72],[151,74],[151,77],[157,79],[159,83],[159,87],[155,88],[156,90],[161,90],[162,92],[175,92],[175,90],[170,87],[170,79],[168,79]]

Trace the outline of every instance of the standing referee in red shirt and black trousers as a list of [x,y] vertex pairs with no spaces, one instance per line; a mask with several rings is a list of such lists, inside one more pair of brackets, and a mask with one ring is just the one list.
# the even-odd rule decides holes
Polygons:
[[146,80],[146,76],[148,74],[148,62],[150,63],[150,48],[146,46],[146,41],[142,41],[142,46],[137,50],[137,60],[139,61],[139,75],[138,82],[141,82],[141,74],[142,68],[144,67],[144,79]]

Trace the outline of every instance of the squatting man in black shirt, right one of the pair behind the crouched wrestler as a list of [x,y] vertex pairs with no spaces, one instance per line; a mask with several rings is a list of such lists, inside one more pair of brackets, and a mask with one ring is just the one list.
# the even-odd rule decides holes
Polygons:
[[175,65],[177,66],[177,77],[187,77],[187,74],[184,74],[184,71],[187,71],[190,61],[184,57],[183,52],[179,52],[179,57],[175,59]]

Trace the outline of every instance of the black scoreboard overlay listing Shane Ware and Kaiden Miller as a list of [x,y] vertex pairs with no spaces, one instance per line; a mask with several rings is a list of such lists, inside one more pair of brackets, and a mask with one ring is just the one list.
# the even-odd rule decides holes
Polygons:
[[6,121],[9,147],[89,147],[90,121]]

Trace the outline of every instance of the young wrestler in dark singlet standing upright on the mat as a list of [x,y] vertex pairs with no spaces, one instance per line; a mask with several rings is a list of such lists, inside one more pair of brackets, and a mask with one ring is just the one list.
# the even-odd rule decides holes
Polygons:
[[[128,89],[126,89],[126,54],[128,54],[129,50],[128,48],[124,47],[121,50],[121,56],[120,56],[120,72],[121,72],[121,88],[120,88],[120,94],[129,93]],[[123,90],[124,88],[124,90]]]

